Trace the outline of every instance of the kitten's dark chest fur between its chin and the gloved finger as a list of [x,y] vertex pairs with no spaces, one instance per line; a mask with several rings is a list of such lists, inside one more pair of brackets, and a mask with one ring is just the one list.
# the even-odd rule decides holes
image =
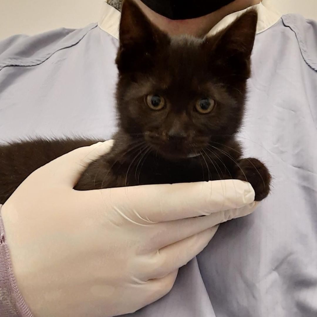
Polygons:
[[[100,189],[146,184],[173,184],[232,178],[238,151],[213,154],[205,152],[188,159],[168,160],[150,149],[127,152],[128,144],[91,163],[76,189]],[[232,167],[231,167],[232,166]]]

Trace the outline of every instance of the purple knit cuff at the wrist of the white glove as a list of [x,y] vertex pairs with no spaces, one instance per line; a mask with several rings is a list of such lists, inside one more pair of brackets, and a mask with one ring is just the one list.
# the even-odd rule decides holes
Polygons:
[[25,304],[14,278],[6,243],[0,205],[0,316],[33,317]]

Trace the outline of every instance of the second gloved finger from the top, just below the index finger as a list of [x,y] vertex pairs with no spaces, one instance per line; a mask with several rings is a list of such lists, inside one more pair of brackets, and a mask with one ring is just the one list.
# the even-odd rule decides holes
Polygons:
[[206,217],[186,218],[157,223],[153,226],[153,236],[149,237],[145,251],[161,249],[214,227],[217,224],[247,216],[256,209],[257,205],[257,202],[253,202],[238,209],[218,211]]

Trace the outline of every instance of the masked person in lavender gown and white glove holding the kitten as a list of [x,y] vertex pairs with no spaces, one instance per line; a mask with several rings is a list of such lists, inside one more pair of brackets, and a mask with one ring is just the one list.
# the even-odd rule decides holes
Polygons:
[[[246,80],[241,74],[250,63],[249,56],[243,54],[252,49],[257,32],[240,138],[247,154],[264,159],[272,172],[272,195],[260,204],[257,213],[222,225],[204,248],[217,224],[253,211],[254,192],[248,183],[211,181],[78,192],[73,187],[80,174],[111,145],[106,142],[70,152],[31,174],[2,207],[1,315],[113,316],[134,312],[166,294],[177,273],[168,296],[133,315],[314,315],[316,24],[299,16],[281,18],[270,1],[264,0],[196,1],[195,6],[176,1],[135,2],[170,36],[187,33],[197,37],[197,45],[204,45],[198,38],[211,29],[208,33],[214,40],[219,34],[230,34],[229,47],[241,41],[237,51],[241,68],[230,75],[238,74],[239,82]],[[242,28],[239,36],[236,27],[219,33],[236,19],[236,11],[251,5],[258,13],[254,32],[252,19],[241,17],[240,21],[250,21],[249,29]],[[119,12],[107,9],[99,27],[53,32],[45,35],[45,44],[43,36],[24,39],[23,43],[14,39],[3,42],[0,78],[3,76],[5,85],[0,129],[5,133],[1,136],[8,141],[39,133],[43,137],[70,133],[110,137],[115,127],[111,85],[116,76],[113,59]],[[125,21],[137,26],[132,17],[126,15]],[[46,46],[48,39],[50,47]],[[219,45],[219,41],[214,43]],[[35,44],[39,49],[34,56],[26,54],[25,49]],[[151,45],[142,44],[140,54]],[[99,50],[93,49],[98,45]],[[212,53],[214,48],[209,49]],[[231,54],[216,55],[210,65],[215,68],[220,57],[227,58],[224,68],[237,65]],[[131,67],[129,59],[124,64],[119,59],[117,65]],[[184,67],[190,68],[190,63]],[[228,86],[228,81],[226,74],[222,85]],[[236,87],[232,81],[229,86],[227,101],[222,102],[220,90],[213,108],[233,106],[245,94],[244,85]],[[23,101],[15,101],[19,96],[12,94],[12,89],[23,95]],[[209,113],[210,104],[206,107],[204,98],[196,107]],[[158,96],[152,96],[149,107],[160,106]],[[199,113],[200,108],[196,108]],[[210,116],[214,113],[211,110]],[[31,113],[33,124],[27,127],[21,124],[21,120],[25,122],[23,111]],[[79,116],[80,124],[72,124]],[[204,214],[209,216],[196,217]]]

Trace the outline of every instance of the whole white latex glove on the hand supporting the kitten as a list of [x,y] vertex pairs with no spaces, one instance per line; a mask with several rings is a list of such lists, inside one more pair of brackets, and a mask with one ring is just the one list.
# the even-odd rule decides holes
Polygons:
[[106,317],[146,306],[170,291],[217,224],[255,207],[251,185],[238,180],[75,191],[81,172],[111,145],[50,162],[3,205],[17,285],[35,317]]

